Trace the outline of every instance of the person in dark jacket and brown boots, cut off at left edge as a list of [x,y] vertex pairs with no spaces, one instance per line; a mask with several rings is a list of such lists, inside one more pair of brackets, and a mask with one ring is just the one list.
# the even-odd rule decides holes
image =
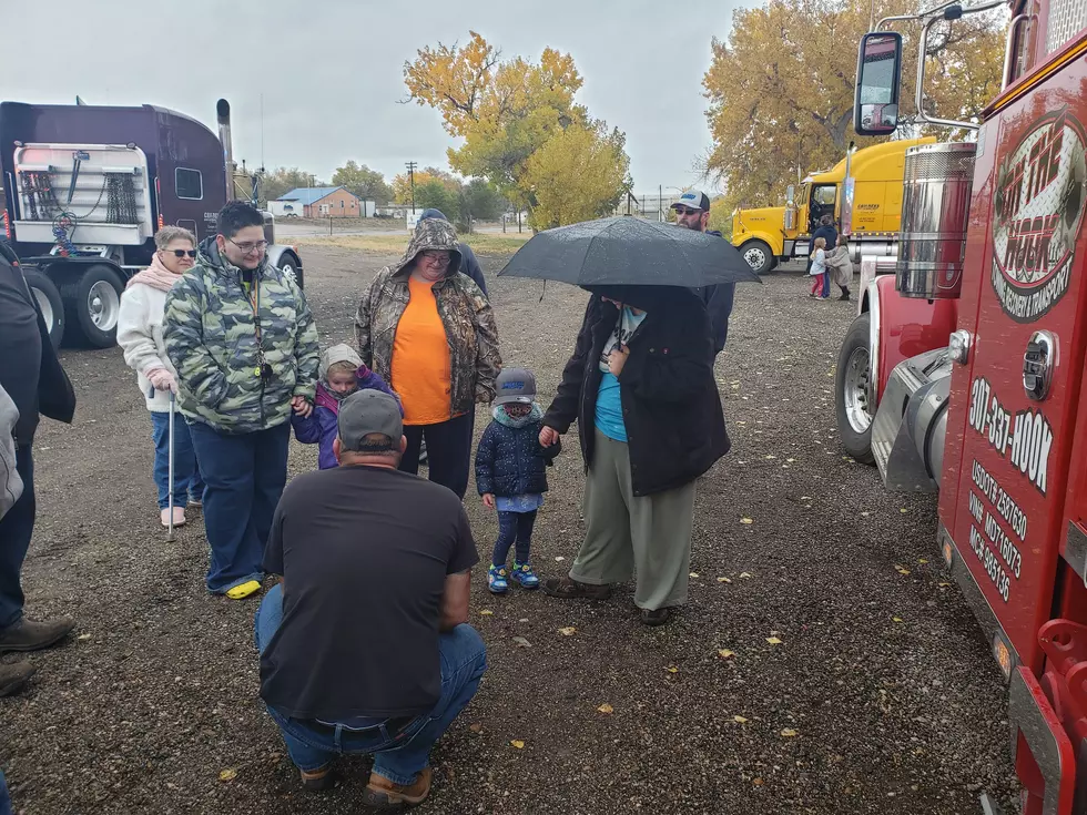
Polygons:
[[[19,410],[16,466],[23,491],[0,518],[0,654],[37,651],[60,642],[75,626],[69,618],[34,621],[22,614],[22,563],[34,532],[34,463],[31,446],[39,415],[71,422],[75,394],[49,342],[45,322],[13,253],[0,245],[0,387]],[[26,662],[0,663],[0,696],[19,691],[34,672]]]

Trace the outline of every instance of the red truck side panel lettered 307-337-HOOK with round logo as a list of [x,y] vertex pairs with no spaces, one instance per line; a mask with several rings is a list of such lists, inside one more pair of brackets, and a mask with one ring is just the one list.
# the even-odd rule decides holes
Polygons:
[[1009,103],[978,142],[959,308],[973,346],[952,383],[954,483],[939,513],[992,612],[976,609],[1005,671],[1040,671],[1065,537],[1087,315],[1085,84],[1079,60]]

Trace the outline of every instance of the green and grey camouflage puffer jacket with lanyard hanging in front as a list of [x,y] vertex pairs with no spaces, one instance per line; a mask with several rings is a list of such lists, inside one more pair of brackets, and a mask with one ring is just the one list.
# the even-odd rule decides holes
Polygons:
[[[266,259],[254,279],[250,299],[241,269],[207,238],[166,295],[162,333],[177,369],[179,407],[221,432],[276,427],[291,419],[292,397],[314,399],[321,348],[306,296]],[[260,376],[254,303],[268,381]]]

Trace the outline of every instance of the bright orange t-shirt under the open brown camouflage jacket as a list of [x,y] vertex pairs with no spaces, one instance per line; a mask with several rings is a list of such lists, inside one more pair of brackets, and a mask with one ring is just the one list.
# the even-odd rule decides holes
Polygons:
[[433,286],[408,278],[408,304],[393,339],[390,385],[404,404],[405,425],[436,425],[453,418],[453,361]]

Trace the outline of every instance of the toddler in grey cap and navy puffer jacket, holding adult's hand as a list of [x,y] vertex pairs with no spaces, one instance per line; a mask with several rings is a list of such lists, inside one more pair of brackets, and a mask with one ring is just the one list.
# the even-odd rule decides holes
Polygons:
[[[496,381],[494,421],[476,448],[476,488],[484,503],[498,510],[498,540],[487,570],[495,594],[509,589],[536,589],[540,580],[528,563],[536,513],[547,492],[547,467],[561,445],[540,445],[544,411],[536,404],[536,377],[528,368],[504,368]],[[512,572],[506,569],[516,542]]]

